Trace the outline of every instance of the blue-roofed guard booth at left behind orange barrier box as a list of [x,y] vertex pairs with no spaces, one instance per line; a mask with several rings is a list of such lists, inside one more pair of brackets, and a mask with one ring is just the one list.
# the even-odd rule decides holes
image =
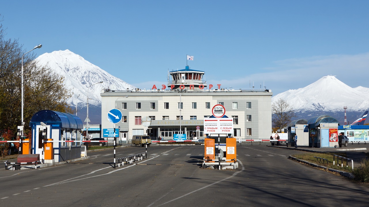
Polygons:
[[[41,158],[45,152],[45,159],[48,158],[53,162],[81,157],[81,142],[65,142],[81,141],[83,123],[78,116],[41,110],[32,116],[30,127],[32,128],[31,154],[40,154]],[[45,143],[46,139],[56,142]]]

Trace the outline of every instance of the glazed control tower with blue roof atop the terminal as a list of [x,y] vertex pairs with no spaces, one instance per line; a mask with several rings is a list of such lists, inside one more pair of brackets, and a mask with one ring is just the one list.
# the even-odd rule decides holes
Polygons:
[[[190,70],[189,66],[186,66],[186,68],[182,70],[171,71],[168,74],[168,88],[170,88],[171,85],[174,85],[172,90],[203,90],[207,87],[206,81],[203,80],[203,78],[205,78],[204,75],[204,71]],[[172,77],[171,81],[169,76]],[[181,87],[181,85],[183,85],[184,88],[183,86]]]

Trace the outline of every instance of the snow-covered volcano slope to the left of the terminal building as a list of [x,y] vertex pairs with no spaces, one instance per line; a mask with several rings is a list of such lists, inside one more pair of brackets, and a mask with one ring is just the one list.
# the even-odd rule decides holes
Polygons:
[[[72,97],[67,100],[70,105],[86,105],[88,94],[89,103],[101,106],[100,92],[103,88],[111,90],[135,89],[133,85],[110,75],[69,50],[44,53],[37,57],[36,61],[41,65],[47,64],[56,73],[65,77],[64,84],[73,93]],[[95,84],[100,81],[103,83]]]

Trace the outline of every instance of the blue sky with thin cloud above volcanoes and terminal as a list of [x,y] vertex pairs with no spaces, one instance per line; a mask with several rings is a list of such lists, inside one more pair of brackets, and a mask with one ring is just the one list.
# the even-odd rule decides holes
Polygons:
[[139,88],[168,69],[278,94],[335,75],[369,88],[369,1],[0,1],[6,38],[66,50]]

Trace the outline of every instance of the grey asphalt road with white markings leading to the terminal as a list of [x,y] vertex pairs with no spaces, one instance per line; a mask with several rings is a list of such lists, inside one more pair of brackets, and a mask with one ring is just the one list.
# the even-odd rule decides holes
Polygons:
[[[117,149],[117,157],[145,151]],[[113,150],[47,168],[0,169],[0,206],[368,206],[369,188],[288,159],[303,153],[237,145],[239,168],[203,169],[203,145],[148,147],[114,169]]]

